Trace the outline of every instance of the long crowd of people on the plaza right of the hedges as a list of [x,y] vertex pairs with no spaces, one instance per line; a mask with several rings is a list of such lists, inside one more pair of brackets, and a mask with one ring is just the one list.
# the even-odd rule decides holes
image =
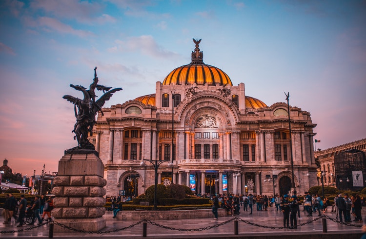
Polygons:
[[[206,195],[204,195],[206,196]],[[209,197],[209,195],[208,195]],[[328,208],[331,208],[331,213],[336,213],[336,219],[343,222],[342,215],[345,222],[351,221],[351,215],[353,215],[355,222],[362,223],[361,209],[362,206],[366,206],[364,198],[360,198],[358,194],[348,197],[347,194],[339,194],[334,199],[334,204],[330,203],[328,198],[322,199],[318,194],[310,195],[309,192],[305,192],[304,200],[298,198],[296,193],[291,197],[289,195],[276,194],[274,197],[266,195],[213,195],[211,198],[213,201],[212,212],[215,219],[217,219],[217,209],[226,209],[227,215],[239,215],[240,209],[243,211],[250,210],[250,214],[253,214],[253,205],[256,206],[257,211],[267,211],[268,207],[275,207],[277,211],[281,211],[284,217],[284,227],[288,229],[297,228],[297,219],[301,219],[300,205],[303,205],[303,211],[307,217],[313,216],[313,213],[318,213],[317,216],[321,216],[322,213],[328,212]]]

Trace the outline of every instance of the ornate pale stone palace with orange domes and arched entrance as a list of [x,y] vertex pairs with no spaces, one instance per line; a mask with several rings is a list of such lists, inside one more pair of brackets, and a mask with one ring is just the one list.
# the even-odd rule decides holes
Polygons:
[[[233,85],[203,62],[200,41],[192,62],[157,81],[155,93],[98,114],[90,141],[104,163],[106,195],[144,193],[154,185],[152,162],[160,164],[158,183],[187,185],[196,194],[283,195],[292,178],[304,194],[317,184],[310,113],[289,107],[290,139],[287,104],[246,96],[244,83]],[[143,167],[142,159],[150,161]]]

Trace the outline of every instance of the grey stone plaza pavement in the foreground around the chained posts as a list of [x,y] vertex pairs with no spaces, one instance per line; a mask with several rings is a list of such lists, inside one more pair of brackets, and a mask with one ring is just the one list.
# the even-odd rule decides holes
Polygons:
[[[109,212],[108,212],[109,213]],[[133,213],[133,212],[131,212]],[[184,211],[182,211],[184,213]],[[366,209],[362,211],[365,217]],[[252,215],[248,212],[243,212],[237,216],[238,219],[238,235],[234,234],[234,218],[231,216],[222,217],[218,220],[212,218],[207,219],[183,219],[183,220],[157,220],[147,221],[146,238],[161,238],[161,239],[183,239],[183,238],[291,238],[297,239],[337,239],[346,238],[360,239],[362,236],[361,223],[352,222],[352,225],[340,224],[331,219],[326,219],[327,233],[323,232],[322,219],[318,219],[317,213],[313,217],[306,217],[305,212],[301,212],[301,219],[298,219],[297,229],[278,228],[283,226],[283,216],[281,212],[277,212],[275,208],[268,208],[268,211],[253,211]],[[325,216],[335,219],[335,213],[325,213]],[[352,217],[353,218],[353,217]],[[314,220],[317,219],[317,220]],[[1,219],[2,220],[2,219]],[[308,222],[308,223],[307,223]],[[133,227],[130,225],[136,224]],[[250,224],[252,223],[252,224]],[[304,223],[303,225],[300,225]],[[107,226],[102,229],[102,233],[53,233],[55,239],[72,239],[72,238],[128,238],[141,239],[143,223],[139,221],[121,221],[107,220]],[[253,225],[254,224],[254,225]],[[22,228],[12,224],[0,224],[0,238],[49,238],[49,225],[41,225],[40,227],[26,230],[32,226],[24,226]],[[34,227],[34,226],[33,226]],[[271,228],[276,227],[276,228]],[[121,230],[122,229],[122,230]],[[175,230],[173,230],[175,229]],[[190,229],[190,230],[188,230]],[[14,230],[14,231],[13,231]],[[22,231],[20,231],[22,230]],[[116,230],[116,232],[113,232]],[[13,232],[12,232],[13,231]]]

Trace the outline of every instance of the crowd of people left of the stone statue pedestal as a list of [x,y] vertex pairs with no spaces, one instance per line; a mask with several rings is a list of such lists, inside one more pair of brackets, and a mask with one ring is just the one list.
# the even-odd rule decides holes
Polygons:
[[14,225],[19,223],[17,227],[21,227],[24,224],[24,218],[28,216],[31,218],[30,224],[34,224],[37,219],[38,225],[40,225],[45,219],[51,220],[52,209],[52,197],[36,195],[28,204],[24,194],[20,195],[20,199],[16,199],[12,193],[9,193],[5,195],[2,224],[11,224],[11,219],[14,218]]

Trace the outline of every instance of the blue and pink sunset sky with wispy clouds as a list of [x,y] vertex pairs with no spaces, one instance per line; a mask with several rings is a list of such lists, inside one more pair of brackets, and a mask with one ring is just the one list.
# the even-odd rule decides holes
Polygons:
[[268,106],[310,112],[317,149],[366,138],[366,0],[1,0],[0,165],[57,172],[71,133],[70,83],[122,87],[104,107],[155,93],[203,61]]

